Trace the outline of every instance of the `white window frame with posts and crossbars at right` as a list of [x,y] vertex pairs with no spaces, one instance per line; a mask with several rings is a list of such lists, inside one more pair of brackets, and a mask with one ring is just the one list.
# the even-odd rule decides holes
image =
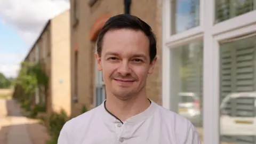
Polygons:
[[[196,39],[204,43],[203,55],[203,141],[220,143],[219,139],[219,43],[225,39],[256,32],[256,10],[235,18],[215,21],[215,0],[200,1],[200,25],[182,33],[171,35],[171,1],[162,1],[162,100],[163,107],[171,109],[175,99],[170,87],[175,86],[171,75],[171,49]],[[164,81],[169,79],[169,81]],[[209,113],[209,111],[211,111]]]

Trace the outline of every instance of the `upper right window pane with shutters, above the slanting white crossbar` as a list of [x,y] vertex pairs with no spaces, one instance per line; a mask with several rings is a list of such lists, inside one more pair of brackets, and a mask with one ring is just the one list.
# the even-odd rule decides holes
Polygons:
[[216,0],[215,23],[256,9],[254,0]]

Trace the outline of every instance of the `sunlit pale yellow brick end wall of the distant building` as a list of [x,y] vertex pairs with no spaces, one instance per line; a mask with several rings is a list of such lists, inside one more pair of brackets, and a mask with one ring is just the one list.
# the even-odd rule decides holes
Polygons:
[[69,11],[51,20],[51,105],[71,113]]

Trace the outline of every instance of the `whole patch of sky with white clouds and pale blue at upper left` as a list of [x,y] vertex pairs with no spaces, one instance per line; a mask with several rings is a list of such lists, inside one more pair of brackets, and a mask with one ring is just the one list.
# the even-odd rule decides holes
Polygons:
[[16,77],[47,20],[69,7],[69,0],[0,0],[0,73]]

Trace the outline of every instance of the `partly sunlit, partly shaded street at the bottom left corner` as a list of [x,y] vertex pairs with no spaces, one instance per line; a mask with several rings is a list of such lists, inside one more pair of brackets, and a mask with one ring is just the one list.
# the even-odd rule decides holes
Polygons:
[[0,99],[0,144],[45,144],[46,128],[21,115],[18,102]]

